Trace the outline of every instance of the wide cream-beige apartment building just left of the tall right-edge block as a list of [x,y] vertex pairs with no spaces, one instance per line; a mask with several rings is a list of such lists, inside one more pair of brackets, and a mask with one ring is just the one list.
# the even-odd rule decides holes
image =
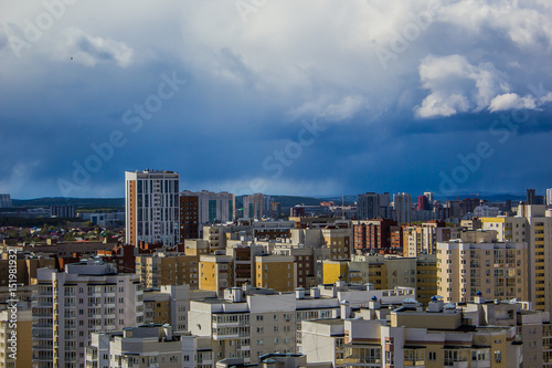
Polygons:
[[526,243],[437,243],[437,294],[446,302],[528,299]]

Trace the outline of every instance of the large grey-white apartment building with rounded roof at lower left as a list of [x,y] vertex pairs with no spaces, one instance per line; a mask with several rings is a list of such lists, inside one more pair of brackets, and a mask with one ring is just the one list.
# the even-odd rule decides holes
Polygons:
[[138,275],[117,274],[103,262],[67,264],[64,272],[38,270],[33,367],[84,367],[91,333],[141,324],[142,297]]

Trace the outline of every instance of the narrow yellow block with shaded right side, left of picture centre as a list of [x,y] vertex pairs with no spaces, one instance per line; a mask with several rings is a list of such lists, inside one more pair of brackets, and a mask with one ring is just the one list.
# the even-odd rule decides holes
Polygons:
[[200,288],[224,295],[234,285],[233,257],[231,255],[200,255]]

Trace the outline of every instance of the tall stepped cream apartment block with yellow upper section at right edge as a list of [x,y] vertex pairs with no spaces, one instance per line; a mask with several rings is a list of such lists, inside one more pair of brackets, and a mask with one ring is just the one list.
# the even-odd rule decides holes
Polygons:
[[552,211],[545,206],[518,207],[516,217],[481,218],[484,230],[499,241],[528,244],[528,293],[535,309],[552,312]]

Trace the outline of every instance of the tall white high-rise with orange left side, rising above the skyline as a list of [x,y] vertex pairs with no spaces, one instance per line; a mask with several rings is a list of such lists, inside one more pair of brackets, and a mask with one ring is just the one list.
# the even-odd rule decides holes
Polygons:
[[125,172],[127,243],[173,246],[180,242],[179,180],[173,171]]

